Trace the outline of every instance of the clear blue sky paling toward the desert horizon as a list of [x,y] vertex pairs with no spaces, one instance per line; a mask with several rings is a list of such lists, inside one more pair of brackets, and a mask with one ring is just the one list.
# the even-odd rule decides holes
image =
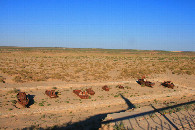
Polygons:
[[0,46],[195,51],[195,1],[0,0]]

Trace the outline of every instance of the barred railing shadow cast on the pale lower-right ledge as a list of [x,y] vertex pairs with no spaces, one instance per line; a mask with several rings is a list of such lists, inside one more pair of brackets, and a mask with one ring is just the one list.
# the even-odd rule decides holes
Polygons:
[[[185,113],[181,112],[182,106],[189,107],[189,105],[194,104],[195,101],[181,103],[173,106],[168,106],[165,108],[157,109],[153,105],[151,107],[154,110],[138,113],[130,116],[125,116],[113,120],[103,121],[102,124],[115,123],[115,125],[119,126],[120,122],[128,122],[128,127],[126,129],[195,129],[194,116],[188,111]],[[192,111],[194,112],[194,107],[192,107]],[[166,115],[165,110],[175,110],[172,113],[168,113]],[[184,112],[184,111],[183,111]],[[157,113],[160,114],[157,115]],[[146,115],[149,115],[146,117]],[[136,127],[135,127],[136,126]],[[123,128],[123,127],[122,127]],[[125,127],[124,127],[125,128]]]

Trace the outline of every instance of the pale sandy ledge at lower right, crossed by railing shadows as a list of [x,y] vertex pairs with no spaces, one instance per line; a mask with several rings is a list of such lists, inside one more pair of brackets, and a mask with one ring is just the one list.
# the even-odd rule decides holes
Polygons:
[[[129,130],[194,130],[195,111],[192,109],[195,108],[195,105],[191,105],[191,107],[193,107],[192,109],[185,109],[186,106],[183,106],[183,104],[181,104],[181,106],[175,107],[178,110],[175,112],[172,112],[174,108],[168,109],[166,112],[160,111],[157,109],[159,107],[158,104],[155,104],[128,112],[108,114],[106,119],[102,122],[101,129],[108,130],[120,128]],[[166,108],[167,107],[163,107],[163,109]]]

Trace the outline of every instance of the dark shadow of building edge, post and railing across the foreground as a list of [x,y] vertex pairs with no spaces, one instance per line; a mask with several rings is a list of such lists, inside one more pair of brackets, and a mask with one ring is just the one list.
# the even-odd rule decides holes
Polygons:
[[[122,99],[125,100],[126,104],[128,105],[128,109],[125,110],[121,110],[121,111],[117,111],[119,112],[125,112],[126,110],[129,109],[134,109],[135,105],[132,104],[127,98],[125,98],[123,95],[120,95]],[[182,103],[182,104],[178,104],[178,105],[174,105],[174,106],[169,106],[166,108],[160,108],[160,109],[156,109],[154,106],[153,107],[154,110],[152,111],[148,111],[148,112],[144,112],[144,113],[139,113],[139,114],[135,114],[135,115],[131,115],[131,116],[126,116],[126,117],[122,117],[122,118],[117,118],[117,119],[113,119],[113,120],[107,120],[107,121],[103,121],[106,117],[107,114],[111,114],[111,113],[117,113],[117,112],[111,112],[111,113],[104,113],[104,114],[98,114],[98,115],[94,115],[91,116],[90,118],[87,118],[84,121],[80,121],[80,122],[76,122],[76,123],[72,123],[72,122],[68,122],[66,124],[60,125],[60,126],[53,126],[53,127],[48,127],[48,128],[40,128],[38,127],[38,129],[55,129],[55,130],[98,130],[99,128],[101,128],[102,125],[105,124],[109,124],[109,123],[115,123],[117,124],[117,122],[123,121],[123,120],[129,120],[129,124],[131,126],[133,126],[134,124],[131,123],[130,119],[135,119],[135,121],[137,122],[138,126],[140,127],[139,129],[145,129],[141,126],[141,124],[138,123],[136,117],[140,117],[143,116],[145,118],[145,115],[149,115],[149,114],[155,114],[155,112],[161,113],[161,111],[163,110],[167,110],[170,108],[176,108],[179,106],[183,106],[183,105],[188,105],[188,104],[193,104],[195,103],[195,101],[192,102],[187,102],[187,103]],[[161,113],[162,114],[162,113]],[[159,124],[157,122],[157,124],[159,126],[156,126],[154,129],[163,129],[163,128],[167,128],[167,129],[171,129],[171,126],[174,127],[175,129],[179,129],[171,120],[169,120],[168,117],[166,117],[164,115],[164,118],[169,122],[169,124],[165,123],[166,126],[163,126],[161,119],[159,118],[161,124]],[[145,118],[146,119],[146,118]],[[151,118],[151,120],[153,120],[154,122],[156,122],[154,119]],[[146,119],[146,122],[148,124],[148,128],[150,127],[149,121]],[[171,126],[170,126],[171,125]],[[28,127],[28,128],[24,128],[24,130],[31,130],[31,129],[36,129],[37,127],[32,126],[32,127]],[[152,127],[150,127],[152,129]],[[127,128],[127,129],[131,129],[131,128]],[[133,127],[132,127],[133,129]]]

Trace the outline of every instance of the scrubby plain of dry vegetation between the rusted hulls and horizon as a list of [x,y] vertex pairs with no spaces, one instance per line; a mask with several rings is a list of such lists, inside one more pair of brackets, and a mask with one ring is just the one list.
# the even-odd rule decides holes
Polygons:
[[63,48],[1,48],[0,52],[0,71],[17,83],[128,80],[168,70],[195,74],[194,52]]

